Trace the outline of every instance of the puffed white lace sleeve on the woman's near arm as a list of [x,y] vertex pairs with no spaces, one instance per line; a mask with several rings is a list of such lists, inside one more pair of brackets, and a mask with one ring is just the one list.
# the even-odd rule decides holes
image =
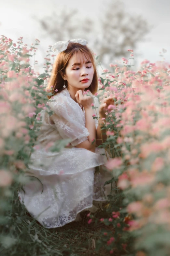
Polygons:
[[71,139],[72,146],[88,139],[85,117],[78,103],[63,96],[56,97],[54,101],[49,102],[49,106],[54,112],[51,118],[63,139]]

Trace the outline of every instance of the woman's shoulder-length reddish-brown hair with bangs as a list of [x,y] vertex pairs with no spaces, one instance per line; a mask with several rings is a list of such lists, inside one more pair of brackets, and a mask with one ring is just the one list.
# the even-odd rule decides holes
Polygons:
[[[67,49],[65,51],[60,52],[57,55],[57,58],[53,64],[50,80],[45,89],[46,92],[51,91],[51,93],[55,95],[64,90],[64,87],[63,87],[64,79],[61,76],[61,71],[65,73],[65,69],[68,65],[70,58],[74,56],[76,53],[83,54],[85,59],[87,59],[87,61],[92,61],[92,65],[94,68],[94,75],[93,75],[92,83],[88,87],[88,90],[90,90],[92,94],[95,94],[97,92],[98,75],[97,75],[95,59],[94,59],[92,50],[90,50],[86,45],[81,45],[80,43],[71,43],[71,42],[68,44]],[[67,87],[67,81],[65,81],[65,86]],[[56,89],[58,90],[57,92],[55,92]],[[48,95],[47,97],[48,99],[50,99],[52,95],[51,96]]]

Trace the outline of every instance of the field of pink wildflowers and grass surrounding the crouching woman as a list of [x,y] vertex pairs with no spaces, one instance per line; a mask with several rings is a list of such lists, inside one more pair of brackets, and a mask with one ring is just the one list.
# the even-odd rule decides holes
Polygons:
[[[0,38],[0,226],[1,255],[170,255],[170,63],[149,60],[131,71],[133,50],[122,65],[110,64],[99,78],[99,101],[112,96],[101,145],[112,158],[114,184],[101,211],[81,223],[47,230],[19,203],[17,191],[41,118],[55,55],[47,51],[44,73],[34,72],[37,45]],[[97,62],[98,56],[96,57]],[[98,63],[100,65],[100,63]],[[51,92],[49,91],[49,95]],[[38,124],[37,124],[37,121]],[[50,143],[59,151],[68,141]],[[36,145],[38,147],[38,145]],[[100,146],[99,146],[100,147]]]

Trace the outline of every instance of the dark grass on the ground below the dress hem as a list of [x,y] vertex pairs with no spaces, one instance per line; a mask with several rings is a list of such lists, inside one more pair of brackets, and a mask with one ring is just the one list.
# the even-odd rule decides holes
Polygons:
[[[71,222],[61,228],[45,229],[20,204],[16,193],[10,203],[12,207],[7,211],[1,225],[1,256],[109,255],[104,248],[95,250],[101,229],[106,226],[102,223],[96,226],[94,223],[88,224],[88,212],[80,213],[80,222]],[[101,212],[97,214],[100,215]]]

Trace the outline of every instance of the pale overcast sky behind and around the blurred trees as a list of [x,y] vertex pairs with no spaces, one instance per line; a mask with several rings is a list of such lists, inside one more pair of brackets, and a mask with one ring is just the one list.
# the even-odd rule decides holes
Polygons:
[[[40,24],[33,18],[43,18],[52,15],[54,11],[66,9],[78,9],[81,16],[89,18],[98,18],[105,11],[108,0],[0,0],[0,35],[11,38],[13,42],[23,36],[23,42],[28,44],[34,42],[35,38],[41,41],[41,47],[46,51],[49,45],[54,42],[50,37],[44,38],[45,32]],[[159,52],[164,48],[167,53],[164,54],[165,60],[170,62],[170,1],[169,0],[122,0],[126,11],[132,14],[141,14],[149,25],[153,25],[151,32],[146,36],[149,41],[137,44],[136,52],[141,56],[137,58],[137,67],[139,63],[148,59],[150,62],[162,60]],[[71,38],[72,39],[72,38]],[[95,49],[93,49],[95,52]],[[35,60],[39,64],[44,63],[45,56],[41,56],[41,51],[36,54]],[[135,57],[135,53],[134,53]],[[136,67],[136,68],[137,68]]]

